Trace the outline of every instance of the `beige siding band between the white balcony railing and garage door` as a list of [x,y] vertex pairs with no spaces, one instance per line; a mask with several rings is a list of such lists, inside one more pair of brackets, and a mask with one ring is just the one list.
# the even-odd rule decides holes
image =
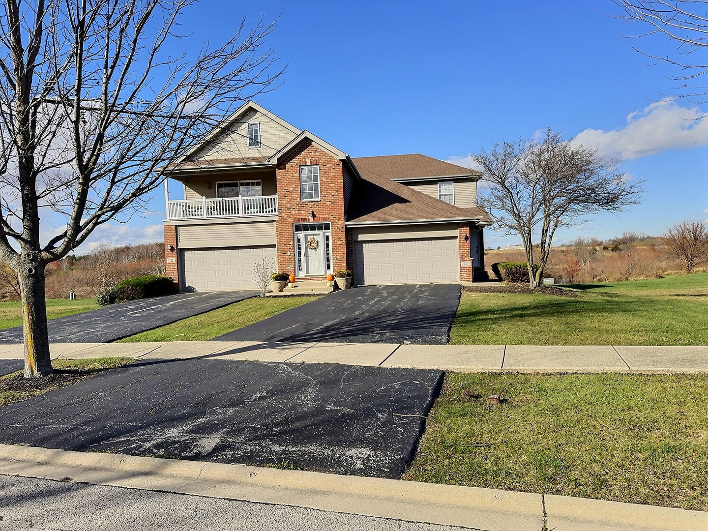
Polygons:
[[186,225],[177,229],[180,249],[275,245],[275,222]]

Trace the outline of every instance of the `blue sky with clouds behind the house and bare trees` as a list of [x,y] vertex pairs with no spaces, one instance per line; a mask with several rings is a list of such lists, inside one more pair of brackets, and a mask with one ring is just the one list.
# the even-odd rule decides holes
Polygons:
[[[662,103],[676,94],[667,79],[675,72],[632,50],[644,41],[619,34],[640,28],[613,18],[620,13],[611,0],[202,0],[183,30],[193,32],[193,45],[216,43],[244,15],[269,21],[281,11],[270,44],[287,72],[259,103],[351,156],[420,152],[466,164],[493,139],[531,137],[550,125],[646,180],[641,205],[593,217],[556,241],[660,234],[708,217],[708,120],[692,120],[704,110]],[[661,41],[646,47],[670,49]],[[102,228],[91,241],[160,241],[161,191],[150,205],[152,214]],[[486,235],[495,247],[516,240]]]

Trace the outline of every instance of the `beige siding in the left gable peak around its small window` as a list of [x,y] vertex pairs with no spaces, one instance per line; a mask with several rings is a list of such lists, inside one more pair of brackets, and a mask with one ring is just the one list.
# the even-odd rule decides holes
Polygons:
[[[253,122],[261,124],[260,147],[249,147],[249,123]],[[297,133],[252,109],[203,148],[195,158],[210,160],[271,156],[296,136]]]

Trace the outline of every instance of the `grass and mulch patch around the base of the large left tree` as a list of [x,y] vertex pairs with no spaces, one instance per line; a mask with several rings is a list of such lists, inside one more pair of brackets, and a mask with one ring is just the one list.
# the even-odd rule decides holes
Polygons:
[[0,377],[0,407],[80,382],[97,372],[114,369],[134,361],[131,358],[52,360],[55,372],[50,376],[35,379],[24,378],[21,371],[12,372]]

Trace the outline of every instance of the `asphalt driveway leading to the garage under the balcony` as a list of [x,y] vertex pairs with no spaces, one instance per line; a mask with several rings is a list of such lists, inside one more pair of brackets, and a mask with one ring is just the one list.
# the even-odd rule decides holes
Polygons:
[[[135,333],[211,312],[254,297],[255,291],[180,293],[112,304],[91,312],[50,319],[52,343],[110,343]],[[0,343],[22,343],[22,327],[0,330]]]

